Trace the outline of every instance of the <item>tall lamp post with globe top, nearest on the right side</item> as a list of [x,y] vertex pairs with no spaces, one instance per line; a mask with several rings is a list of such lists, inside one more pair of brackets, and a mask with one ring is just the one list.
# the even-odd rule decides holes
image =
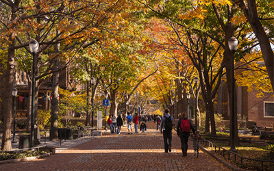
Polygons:
[[229,38],[228,40],[228,47],[229,50],[232,51],[232,93],[231,93],[231,99],[232,99],[232,105],[231,105],[231,122],[230,122],[230,149],[231,151],[236,152],[235,148],[235,110],[234,110],[234,94],[235,94],[235,78],[234,78],[234,53],[238,46],[238,40],[234,37]]

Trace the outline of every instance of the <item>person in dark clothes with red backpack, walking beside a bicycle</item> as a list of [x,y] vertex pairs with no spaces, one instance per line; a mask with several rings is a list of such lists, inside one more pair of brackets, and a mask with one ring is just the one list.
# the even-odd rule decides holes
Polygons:
[[[177,124],[177,135],[181,139],[181,148],[183,157],[185,157],[188,150],[188,137],[190,135],[190,129],[193,133],[195,133],[195,129],[192,123],[188,120],[188,117],[185,112],[182,114],[182,118],[179,119]],[[196,133],[195,133],[196,134]]]

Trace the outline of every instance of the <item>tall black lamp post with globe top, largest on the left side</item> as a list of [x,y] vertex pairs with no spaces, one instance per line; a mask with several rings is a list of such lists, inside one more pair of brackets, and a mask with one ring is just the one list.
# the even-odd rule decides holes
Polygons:
[[31,122],[31,143],[30,147],[34,146],[34,112],[35,112],[35,55],[39,49],[39,43],[36,40],[32,40],[29,42],[29,50],[32,53],[32,122]]

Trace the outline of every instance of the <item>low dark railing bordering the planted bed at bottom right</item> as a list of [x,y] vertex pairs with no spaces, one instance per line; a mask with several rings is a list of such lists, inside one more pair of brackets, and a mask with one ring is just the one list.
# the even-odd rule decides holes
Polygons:
[[[234,158],[234,161],[236,162],[237,159],[240,159],[240,164],[243,163],[243,160],[249,160],[249,161],[258,161],[261,164],[261,170],[264,170],[264,163],[274,163],[274,161],[271,160],[264,160],[264,159],[251,159],[251,158],[247,158],[247,157],[242,157],[241,155],[239,155],[238,153],[234,153],[230,150],[227,150],[221,146],[218,146],[202,137],[199,137],[199,144],[203,144],[205,146],[210,147],[211,146],[211,150],[214,153],[221,152],[223,157],[225,158],[225,156],[227,155],[227,159],[230,160],[231,157]],[[213,150],[214,149],[214,150]],[[238,164],[238,163],[236,163]]]

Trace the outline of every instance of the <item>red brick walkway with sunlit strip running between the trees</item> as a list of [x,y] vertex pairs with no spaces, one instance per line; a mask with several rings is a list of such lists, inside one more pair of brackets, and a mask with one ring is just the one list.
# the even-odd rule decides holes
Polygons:
[[164,153],[162,134],[153,122],[147,126],[147,133],[128,135],[123,127],[121,135],[108,131],[45,159],[3,164],[0,170],[229,170],[202,151],[195,158],[192,141],[188,156],[182,157],[175,132],[172,152]]

